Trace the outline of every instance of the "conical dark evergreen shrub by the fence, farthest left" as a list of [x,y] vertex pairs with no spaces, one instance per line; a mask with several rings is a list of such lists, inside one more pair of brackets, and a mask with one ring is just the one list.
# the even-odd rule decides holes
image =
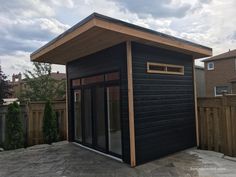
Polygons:
[[6,115],[6,140],[4,147],[8,150],[24,147],[21,111],[20,106],[16,102],[8,106]]

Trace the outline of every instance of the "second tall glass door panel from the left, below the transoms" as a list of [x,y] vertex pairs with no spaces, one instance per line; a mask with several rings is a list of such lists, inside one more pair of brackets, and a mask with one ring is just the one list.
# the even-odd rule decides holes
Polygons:
[[84,90],[84,142],[92,145],[92,90]]

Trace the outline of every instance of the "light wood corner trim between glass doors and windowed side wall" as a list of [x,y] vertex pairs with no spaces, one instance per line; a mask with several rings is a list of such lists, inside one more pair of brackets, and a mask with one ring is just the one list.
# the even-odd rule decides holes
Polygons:
[[126,42],[127,53],[127,78],[128,78],[128,108],[129,108],[129,132],[130,132],[130,165],[136,166],[135,152],[135,126],[134,126],[134,98],[133,98],[133,73],[131,42]]

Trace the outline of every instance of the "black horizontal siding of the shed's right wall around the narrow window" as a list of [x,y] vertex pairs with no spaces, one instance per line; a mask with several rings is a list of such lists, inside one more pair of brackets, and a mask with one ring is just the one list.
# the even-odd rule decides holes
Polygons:
[[[136,159],[141,164],[196,143],[192,57],[132,43]],[[184,66],[184,75],[147,73],[147,62]]]

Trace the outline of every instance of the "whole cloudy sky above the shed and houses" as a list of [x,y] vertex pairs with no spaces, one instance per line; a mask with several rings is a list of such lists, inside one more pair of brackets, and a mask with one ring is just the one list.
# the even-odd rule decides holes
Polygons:
[[[211,47],[217,55],[236,48],[235,7],[236,0],[0,0],[0,65],[8,76],[30,70],[30,53],[93,12]],[[53,65],[53,71],[65,69]]]

